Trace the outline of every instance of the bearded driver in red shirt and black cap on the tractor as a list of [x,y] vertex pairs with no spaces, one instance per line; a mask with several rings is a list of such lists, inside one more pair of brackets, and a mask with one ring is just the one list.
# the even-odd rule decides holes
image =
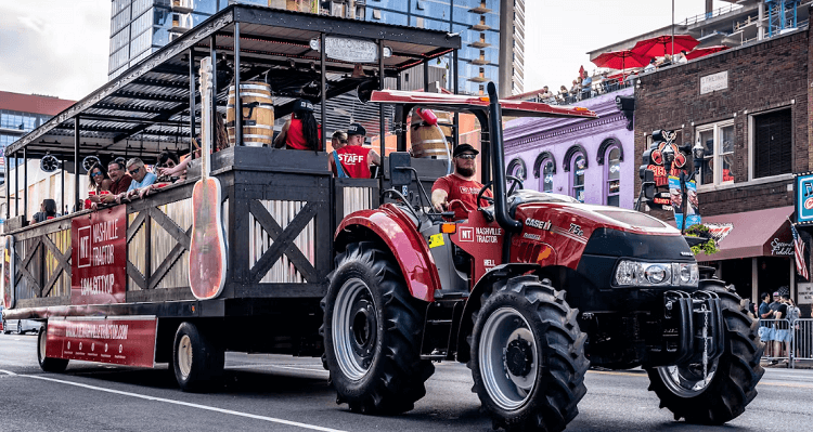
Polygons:
[[[477,163],[475,159],[479,153],[480,152],[468,144],[461,144],[454,149],[454,153],[452,154],[454,172],[441,176],[435,181],[435,184],[431,186],[431,205],[435,207],[435,210],[449,210],[449,201],[453,199],[460,199],[470,209],[488,206],[488,202],[485,199],[480,200],[480,206],[477,205],[477,194],[482,188],[482,183],[475,180],[475,174],[477,173]],[[491,197],[491,191],[486,189],[482,196]],[[465,218],[466,217],[457,219]]]

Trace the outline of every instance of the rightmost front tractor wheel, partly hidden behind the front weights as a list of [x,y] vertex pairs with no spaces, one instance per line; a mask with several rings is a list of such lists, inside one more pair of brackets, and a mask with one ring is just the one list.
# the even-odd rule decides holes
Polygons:
[[765,370],[760,366],[764,344],[758,336],[759,322],[748,316],[746,302],[725,289],[720,280],[700,280],[700,289],[715,292],[722,300],[725,352],[707,365],[647,368],[649,390],[660,398],[660,407],[696,424],[723,424],[745,411],[757,396],[757,383]]

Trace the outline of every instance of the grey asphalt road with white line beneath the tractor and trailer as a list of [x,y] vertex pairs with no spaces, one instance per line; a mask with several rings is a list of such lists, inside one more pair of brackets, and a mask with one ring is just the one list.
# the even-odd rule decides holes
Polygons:
[[[36,336],[0,335],[0,431],[490,431],[465,365],[443,363],[427,395],[401,416],[352,414],[336,405],[318,358],[227,355],[216,393],[182,393],[165,367],[72,362],[44,374]],[[642,371],[597,371],[568,431],[789,431],[813,421],[813,370],[769,369],[759,395],[725,427],[673,421]]]

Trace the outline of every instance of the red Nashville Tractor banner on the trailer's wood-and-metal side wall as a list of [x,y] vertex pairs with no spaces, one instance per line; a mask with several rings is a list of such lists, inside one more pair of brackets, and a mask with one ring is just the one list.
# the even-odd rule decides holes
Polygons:
[[124,303],[127,212],[116,206],[70,221],[70,303]]

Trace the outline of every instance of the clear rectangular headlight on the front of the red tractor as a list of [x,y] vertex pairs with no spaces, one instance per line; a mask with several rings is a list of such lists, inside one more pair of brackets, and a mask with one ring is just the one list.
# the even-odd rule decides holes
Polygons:
[[691,286],[699,279],[697,263],[661,263],[622,260],[616,266],[616,286]]

